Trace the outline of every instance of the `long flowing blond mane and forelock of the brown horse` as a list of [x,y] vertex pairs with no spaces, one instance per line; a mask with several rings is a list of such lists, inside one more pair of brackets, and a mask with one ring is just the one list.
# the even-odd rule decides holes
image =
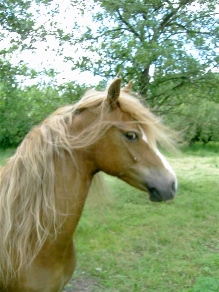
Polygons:
[[[61,213],[55,202],[54,154],[64,158],[67,151],[77,167],[74,150],[94,144],[110,127],[121,126],[122,122],[105,120],[110,110],[106,95],[107,91],[89,90],[76,104],[55,111],[26,135],[1,169],[0,279],[3,282],[19,273],[23,265],[30,264],[48,236],[56,236],[64,222],[67,209],[66,214]],[[119,107],[141,125],[151,148],[157,142],[171,146],[169,130],[143,106],[137,95],[121,91]],[[70,135],[74,118],[85,109],[94,113],[95,122],[78,135]]]

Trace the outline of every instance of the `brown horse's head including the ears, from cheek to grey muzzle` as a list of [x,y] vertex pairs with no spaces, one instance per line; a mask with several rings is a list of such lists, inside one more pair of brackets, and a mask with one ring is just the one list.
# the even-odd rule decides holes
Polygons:
[[[151,125],[147,125],[146,120],[136,119],[136,109],[124,110],[129,102],[125,95],[131,84],[123,90],[120,90],[120,84],[121,79],[116,79],[108,90],[110,110],[105,119],[112,121],[112,126],[95,145],[97,168],[148,191],[152,201],[171,200],[177,189],[176,175],[156,146],[150,144],[147,129]],[[139,111],[142,110],[145,110],[143,115],[153,116],[141,105]]]

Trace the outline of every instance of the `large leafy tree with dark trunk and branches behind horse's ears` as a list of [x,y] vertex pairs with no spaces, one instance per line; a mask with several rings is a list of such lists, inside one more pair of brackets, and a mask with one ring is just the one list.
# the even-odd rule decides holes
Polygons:
[[88,25],[74,42],[93,55],[67,57],[73,68],[106,79],[117,73],[126,82],[133,78],[134,89],[161,113],[186,102],[185,92],[203,95],[199,87],[212,86],[218,39],[215,0],[95,2],[102,8],[93,15],[99,29],[93,32]]

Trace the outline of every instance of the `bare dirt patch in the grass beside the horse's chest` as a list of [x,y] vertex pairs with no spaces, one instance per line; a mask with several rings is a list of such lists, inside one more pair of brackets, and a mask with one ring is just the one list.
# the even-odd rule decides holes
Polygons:
[[63,292],[94,292],[103,291],[103,286],[98,284],[94,278],[80,276],[77,279],[72,278],[65,285]]

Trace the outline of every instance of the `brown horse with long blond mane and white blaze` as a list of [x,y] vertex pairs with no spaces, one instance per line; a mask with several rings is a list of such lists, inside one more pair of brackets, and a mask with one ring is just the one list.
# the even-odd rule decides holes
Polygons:
[[100,171],[172,200],[173,137],[121,78],[35,126],[1,171],[0,290],[61,292],[76,267],[73,235]]

